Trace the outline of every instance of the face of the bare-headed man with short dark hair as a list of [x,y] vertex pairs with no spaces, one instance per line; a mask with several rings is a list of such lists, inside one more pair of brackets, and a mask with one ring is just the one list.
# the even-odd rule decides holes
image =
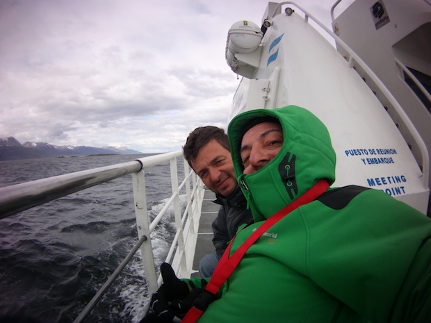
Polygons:
[[213,192],[224,197],[234,192],[236,176],[231,154],[217,140],[211,140],[202,147],[191,164],[206,187]]

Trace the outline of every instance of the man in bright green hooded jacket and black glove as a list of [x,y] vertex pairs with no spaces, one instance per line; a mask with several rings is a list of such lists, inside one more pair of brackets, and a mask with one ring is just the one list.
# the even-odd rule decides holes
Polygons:
[[[380,190],[323,186],[316,194],[320,183],[334,183],[336,154],[326,127],[308,110],[247,111],[228,134],[254,217],[231,242],[230,259],[279,210],[296,208],[248,247],[197,322],[431,322],[428,217]],[[211,288],[225,272],[218,268]],[[178,304],[202,281],[175,282],[163,271],[170,278],[161,299],[173,301],[164,307],[173,310],[156,313],[174,322],[184,315]],[[161,304],[157,296],[152,304]]]

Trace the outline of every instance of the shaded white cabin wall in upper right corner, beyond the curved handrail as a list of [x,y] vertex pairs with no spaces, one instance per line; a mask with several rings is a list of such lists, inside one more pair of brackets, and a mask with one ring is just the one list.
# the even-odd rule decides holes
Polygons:
[[[339,37],[351,47],[389,88],[428,147],[431,159],[431,114],[405,83],[395,58],[407,67],[431,75],[431,5],[423,0],[383,0],[389,23],[376,29],[371,6],[375,0],[355,1],[334,19]],[[407,17],[407,19],[406,19]],[[342,49],[339,49],[343,53]],[[400,129],[404,129],[400,119]],[[405,135],[409,138],[409,134]],[[412,147],[416,158],[421,153]],[[431,174],[430,174],[431,184]]]

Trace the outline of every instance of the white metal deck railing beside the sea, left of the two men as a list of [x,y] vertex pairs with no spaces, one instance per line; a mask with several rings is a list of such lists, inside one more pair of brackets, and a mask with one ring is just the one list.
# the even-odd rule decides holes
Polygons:
[[[47,179],[0,188],[1,219],[19,213],[22,210],[58,199],[59,197],[64,197],[74,192],[79,192],[86,188],[111,181],[120,176],[127,174],[132,175],[138,242],[127,257],[124,258],[120,266],[111,274],[108,281],[104,283],[95,297],[88,303],[86,308],[76,317],[74,323],[83,322],[83,320],[85,320],[92,308],[96,306],[106,290],[108,290],[113,281],[115,281],[117,276],[119,276],[139,249],[142,254],[143,268],[149,295],[152,295],[152,293],[158,289],[158,285],[161,283],[161,277],[159,277],[159,279],[156,278],[156,267],[152,253],[150,234],[171,205],[173,205],[174,208],[177,233],[165,262],[172,264],[178,276],[190,277],[190,274],[193,272],[192,266],[195,249],[189,246],[195,246],[196,244],[204,188],[202,181],[200,181],[193,170],[190,171],[190,167],[184,158],[182,158],[184,162],[184,179],[178,184],[178,157],[182,157],[181,151],[139,158],[128,163],[88,169],[81,172],[53,176]],[[154,220],[149,223],[145,190],[145,170],[149,167],[167,162],[170,163],[172,195]],[[179,192],[183,188],[186,190],[186,208],[184,213],[181,214]]]

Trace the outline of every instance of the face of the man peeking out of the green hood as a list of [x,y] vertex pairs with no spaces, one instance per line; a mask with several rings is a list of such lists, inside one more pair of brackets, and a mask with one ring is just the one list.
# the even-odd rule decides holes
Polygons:
[[282,126],[263,122],[250,128],[241,142],[244,174],[257,172],[277,156],[283,146]]

